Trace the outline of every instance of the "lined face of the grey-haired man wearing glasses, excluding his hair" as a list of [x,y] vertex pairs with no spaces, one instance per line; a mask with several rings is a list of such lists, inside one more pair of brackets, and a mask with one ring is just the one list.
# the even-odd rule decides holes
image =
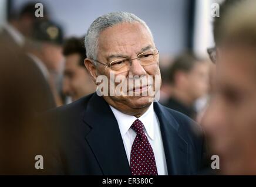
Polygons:
[[[119,60],[122,58],[136,58],[143,52],[156,49],[153,39],[147,29],[140,23],[121,23],[113,27],[109,27],[103,30],[99,36],[99,53],[97,61],[105,64],[109,64],[111,61]],[[110,80],[110,68],[106,68],[105,65],[97,64],[95,68],[89,68],[92,75],[95,72],[97,75],[106,75]],[[139,96],[104,96],[105,100],[110,105],[129,113],[130,115],[136,115],[136,109],[147,108],[154,96],[143,96],[141,93],[147,91],[150,87],[154,88],[154,78],[156,75],[160,77],[159,70],[159,56],[153,64],[143,66],[140,61],[135,59],[130,64],[129,70],[123,72],[115,72],[115,77],[122,75],[126,78],[126,81],[130,79],[130,76],[148,77],[153,76],[153,82],[151,84],[140,84],[138,87],[133,87],[133,92],[140,92]],[[110,80],[111,81],[111,80]],[[109,81],[109,82],[110,82]],[[119,84],[114,82],[114,85]]]

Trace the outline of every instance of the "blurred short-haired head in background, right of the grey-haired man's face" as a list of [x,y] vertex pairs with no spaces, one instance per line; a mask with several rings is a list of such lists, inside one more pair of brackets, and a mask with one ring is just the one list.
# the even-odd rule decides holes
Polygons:
[[169,70],[169,81],[173,89],[186,94],[192,102],[207,94],[208,77],[208,62],[189,52],[177,57]]

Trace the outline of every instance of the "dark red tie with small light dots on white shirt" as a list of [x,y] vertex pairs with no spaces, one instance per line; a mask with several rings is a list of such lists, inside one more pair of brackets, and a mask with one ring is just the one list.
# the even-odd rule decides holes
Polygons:
[[158,175],[153,149],[147,140],[143,127],[143,123],[139,119],[136,119],[132,124],[132,129],[137,133],[130,157],[132,175]]

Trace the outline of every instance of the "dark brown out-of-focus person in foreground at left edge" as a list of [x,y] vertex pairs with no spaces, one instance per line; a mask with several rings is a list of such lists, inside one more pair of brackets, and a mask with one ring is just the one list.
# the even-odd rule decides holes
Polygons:
[[55,103],[41,72],[22,50],[0,40],[0,59],[0,175],[36,174],[35,156],[53,141],[40,138],[44,127],[35,118]]

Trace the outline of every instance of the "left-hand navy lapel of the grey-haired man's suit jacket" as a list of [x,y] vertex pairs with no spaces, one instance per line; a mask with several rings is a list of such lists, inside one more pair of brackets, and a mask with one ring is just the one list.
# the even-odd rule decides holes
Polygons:
[[105,100],[94,93],[83,119],[92,127],[86,140],[103,174],[131,175],[119,126]]

